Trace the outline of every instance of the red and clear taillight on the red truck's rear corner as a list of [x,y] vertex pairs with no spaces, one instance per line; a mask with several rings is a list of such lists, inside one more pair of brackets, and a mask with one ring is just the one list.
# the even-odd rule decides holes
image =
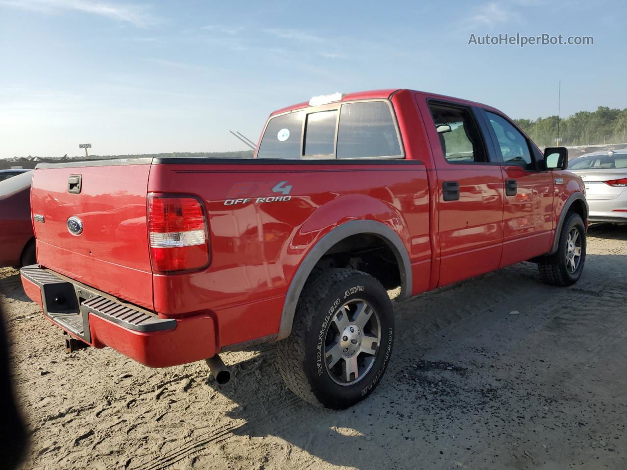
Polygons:
[[149,194],[148,236],[153,271],[184,271],[209,264],[203,204],[194,197]]

